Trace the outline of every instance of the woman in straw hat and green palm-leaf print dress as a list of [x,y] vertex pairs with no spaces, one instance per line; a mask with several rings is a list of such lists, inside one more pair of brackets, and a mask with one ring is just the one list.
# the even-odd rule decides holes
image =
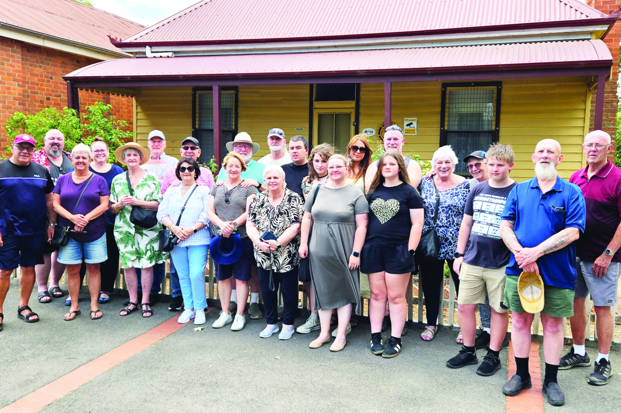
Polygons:
[[[116,214],[114,238],[119,245],[120,265],[125,270],[125,282],[129,290],[129,304],[119,315],[127,316],[138,308],[138,278],[136,269],[142,269],[142,286],[145,291],[151,289],[153,266],[161,264],[168,254],[158,251],[158,232],[161,225],[143,228],[130,221],[134,206],[157,211],[161,201],[160,181],[153,173],[140,168],[148,161],[149,151],[135,142],[122,145],[114,151],[120,163],[127,165],[127,172],[117,175],[110,188],[110,211]],[[132,185],[132,194],[128,180]],[[142,316],[150,317],[149,295],[142,295]]]

